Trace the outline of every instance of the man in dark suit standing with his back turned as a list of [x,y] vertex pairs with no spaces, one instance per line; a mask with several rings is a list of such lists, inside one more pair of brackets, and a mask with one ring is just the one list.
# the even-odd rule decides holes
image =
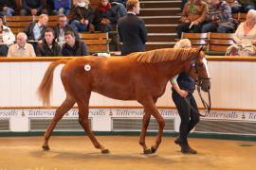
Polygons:
[[133,52],[145,51],[147,42],[147,30],[144,21],[137,18],[139,13],[138,0],[128,0],[126,4],[127,16],[119,19],[118,31],[121,46],[121,55],[125,56]]

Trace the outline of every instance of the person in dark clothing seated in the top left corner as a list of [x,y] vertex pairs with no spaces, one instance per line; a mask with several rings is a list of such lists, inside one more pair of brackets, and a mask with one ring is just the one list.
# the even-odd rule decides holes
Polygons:
[[16,9],[16,1],[15,0],[1,0],[0,1],[0,15],[4,16],[12,16],[14,14],[14,10]]

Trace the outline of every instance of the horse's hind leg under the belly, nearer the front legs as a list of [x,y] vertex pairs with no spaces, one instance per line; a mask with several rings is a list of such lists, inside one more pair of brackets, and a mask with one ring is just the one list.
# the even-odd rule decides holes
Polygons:
[[88,119],[88,114],[89,114],[89,98],[90,98],[90,93],[88,96],[82,96],[82,99],[79,100],[78,107],[79,107],[79,123],[90,138],[92,144],[98,148],[101,149],[101,153],[109,153],[109,150],[105,147],[103,147],[94,134],[92,133],[90,127],[89,127],[89,119]]

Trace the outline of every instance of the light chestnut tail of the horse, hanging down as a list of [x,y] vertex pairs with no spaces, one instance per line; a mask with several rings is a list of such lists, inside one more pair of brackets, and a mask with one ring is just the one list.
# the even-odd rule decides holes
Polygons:
[[67,61],[68,61],[68,59],[56,60],[48,66],[48,68],[46,70],[46,74],[43,77],[43,80],[37,89],[38,97],[40,100],[43,101],[44,106],[50,105],[50,93],[52,91],[53,72],[54,72],[55,68],[59,64],[66,63]]

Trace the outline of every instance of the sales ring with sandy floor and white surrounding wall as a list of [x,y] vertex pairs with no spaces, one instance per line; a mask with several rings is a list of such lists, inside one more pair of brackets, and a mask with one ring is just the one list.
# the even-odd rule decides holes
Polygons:
[[[64,87],[56,68],[51,107],[44,108],[36,91],[49,63],[62,58],[0,60],[0,170],[9,169],[251,169],[256,153],[256,59],[208,57],[211,107],[192,130],[190,144],[196,155],[182,154],[174,144],[180,119],[171,85],[156,103],[165,119],[162,143],[145,155],[138,144],[143,108],[135,101],[120,101],[92,93],[89,125],[110,150],[94,148],[78,122],[78,109],[65,113],[43,151],[44,133],[64,100]],[[67,58],[65,58],[67,59]],[[202,114],[206,113],[194,93]],[[203,93],[203,97],[207,95]],[[152,118],[146,137],[155,143],[158,124]]]

